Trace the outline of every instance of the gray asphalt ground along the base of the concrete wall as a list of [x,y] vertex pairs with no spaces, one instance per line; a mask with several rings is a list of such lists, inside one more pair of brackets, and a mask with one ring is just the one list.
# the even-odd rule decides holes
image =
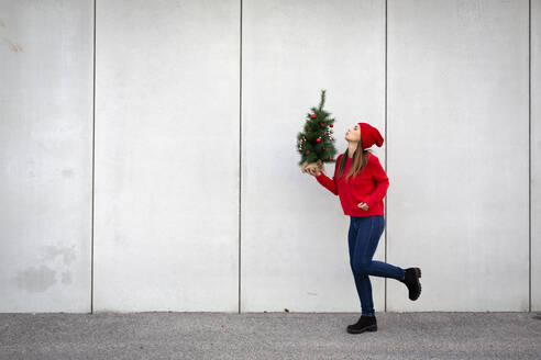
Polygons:
[[0,359],[541,359],[541,313],[0,314]]

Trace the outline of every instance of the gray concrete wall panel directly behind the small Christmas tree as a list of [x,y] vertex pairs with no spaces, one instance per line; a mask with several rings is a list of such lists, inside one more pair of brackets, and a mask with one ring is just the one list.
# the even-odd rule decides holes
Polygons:
[[[321,89],[340,153],[356,122],[384,132],[384,20],[383,1],[243,1],[242,312],[361,311],[350,218],[338,196],[300,172],[295,134]],[[375,153],[385,161],[384,148]],[[375,259],[384,241],[385,233]],[[380,312],[384,279],[372,279]]]

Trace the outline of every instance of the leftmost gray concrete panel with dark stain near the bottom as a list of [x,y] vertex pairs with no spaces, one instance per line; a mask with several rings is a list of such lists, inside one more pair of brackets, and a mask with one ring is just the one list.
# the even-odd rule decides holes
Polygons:
[[89,312],[92,1],[0,1],[0,312]]

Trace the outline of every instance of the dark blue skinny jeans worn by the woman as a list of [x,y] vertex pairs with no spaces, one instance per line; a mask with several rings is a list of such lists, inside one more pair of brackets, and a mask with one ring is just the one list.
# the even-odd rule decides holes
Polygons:
[[355,279],[361,315],[375,316],[374,300],[372,299],[372,283],[368,275],[393,278],[401,280],[406,271],[390,263],[372,260],[376,252],[379,237],[385,227],[384,215],[351,216],[347,233],[350,247],[350,266]]

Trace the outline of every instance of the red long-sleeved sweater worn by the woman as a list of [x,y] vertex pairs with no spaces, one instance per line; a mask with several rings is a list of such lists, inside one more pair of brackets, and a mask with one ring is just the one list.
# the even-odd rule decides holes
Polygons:
[[[339,155],[334,165],[334,176],[330,179],[321,172],[316,177],[319,183],[329,189],[333,194],[339,195],[344,215],[352,216],[372,216],[384,215],[383,199],[389,188],[389,179],[385,173],[379,159],[368,153],[368,164],[366,168],[358,172],[356,177],[345,180],[345,175],[350,171],[352,159],[347,158],[345,169],[341,178],[336,178],[340,159],[343,154]],[[368,210],[358,207],[358,203],[366,203]]]

